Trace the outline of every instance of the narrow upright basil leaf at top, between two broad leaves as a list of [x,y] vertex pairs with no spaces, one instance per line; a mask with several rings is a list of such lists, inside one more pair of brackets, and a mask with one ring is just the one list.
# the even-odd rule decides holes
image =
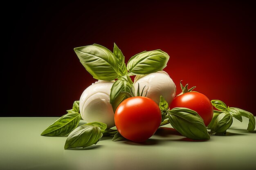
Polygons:
[[118,74],[119,75],[125,75],[127,73],[127,68],[124,62],[124,55],[121,52],[121,50],[117,47],[117,44],[114,43],[114,50],[113,54],[115,55],[117,59],[117,64],[118,64]]

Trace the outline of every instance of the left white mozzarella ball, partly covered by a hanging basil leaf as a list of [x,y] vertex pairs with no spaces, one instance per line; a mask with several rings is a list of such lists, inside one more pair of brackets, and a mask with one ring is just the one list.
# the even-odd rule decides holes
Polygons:
[[99,81],[86,88],[79,101],[81,117],[87,123],[99,121],[115,126],[114,111],[110,104],[110,89],[114,82]]

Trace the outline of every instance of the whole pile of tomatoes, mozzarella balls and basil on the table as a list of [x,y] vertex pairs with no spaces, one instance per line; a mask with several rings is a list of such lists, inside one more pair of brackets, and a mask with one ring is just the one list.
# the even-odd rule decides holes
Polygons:
[[[43,136],[67,136],[64,149],[86,148],[102,136],[112,136],[112,141],[146,141],[166,124],[189,139],[209,140],[210,135],[225,135],[233,117],[242,121],[242,116],[249,118],[247,130],[254,131],[252,113],[220,100],[210,101],[193,91],[195,86],[188,89],[181,81],[182,93],[175,96],[173,80],[162,71],[169,60],[164,51],[138,53],[127,66],[116,44],[113,53],[98,44],[74,51],[98,81],[83,91],[67,114],[42,132]],[[136,75],[134,82],[132,75]],[[87,123],[79,126],[81,119]]]

